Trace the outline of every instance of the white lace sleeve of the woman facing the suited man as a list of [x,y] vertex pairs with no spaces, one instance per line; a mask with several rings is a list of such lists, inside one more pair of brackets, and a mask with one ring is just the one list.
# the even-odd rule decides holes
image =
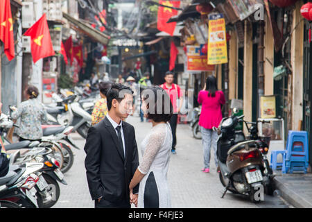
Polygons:
[[154,158],[159,151],[159,148],[162,146],[162,144],[164,144],[165,136],[166,130],[164,130],[163,128],[158,128],[157,130],[155,130],[155,132],[150,134],[142,161],[138,167],[141,173],[148,173],[150,165],[153,163]]

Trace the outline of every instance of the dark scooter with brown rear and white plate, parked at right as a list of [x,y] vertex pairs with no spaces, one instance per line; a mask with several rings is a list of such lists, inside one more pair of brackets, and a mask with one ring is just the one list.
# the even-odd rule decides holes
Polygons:
[[242,131],[236,131],[239,121],[243,121],[243,115],[223,118],[218,128],[217,158],[220,169],[219,178],[225,191],[234,194],[249,196],[254,203],[259,203],[261,198],[256,196],[261,186],[264,188],[270,184],[270,176],[261,153],[261,143],[257,140],[246,140]]

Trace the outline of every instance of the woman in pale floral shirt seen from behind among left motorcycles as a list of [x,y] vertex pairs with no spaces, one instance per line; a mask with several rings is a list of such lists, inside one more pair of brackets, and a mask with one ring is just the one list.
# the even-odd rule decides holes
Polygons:
[[42,138],[42,122],[48,122],[44,105],[37,101],[39,91],[37,87],[29,85],[25,91],[28,100],[22,102],[19,108],[12,108],[12,119],[19,120],[16,128],[19,141],[37,140]]

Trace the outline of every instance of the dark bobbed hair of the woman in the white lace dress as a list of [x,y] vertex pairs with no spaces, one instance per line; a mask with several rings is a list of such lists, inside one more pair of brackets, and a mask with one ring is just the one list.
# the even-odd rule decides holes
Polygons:
[[[147,103],[147,118],[159,123],[162,121],[169,121],[173,114],[173,105],[171,100],[162,87],[153,86],[144,89],[141,94],[143,101]],[[152,96],[152,98],[150,98]]]

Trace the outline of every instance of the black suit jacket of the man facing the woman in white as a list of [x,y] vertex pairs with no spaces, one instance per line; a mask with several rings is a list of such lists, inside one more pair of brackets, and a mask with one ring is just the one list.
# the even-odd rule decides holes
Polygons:
[[[125,157],[116,130],[105,117],[89,128],[85,144],[85,168],[92,200],[101,196],[110,203],[130,200],[130,181],[139,166],[135,128],[123,121]],[[139,186],[133,189],[137,193]]]

